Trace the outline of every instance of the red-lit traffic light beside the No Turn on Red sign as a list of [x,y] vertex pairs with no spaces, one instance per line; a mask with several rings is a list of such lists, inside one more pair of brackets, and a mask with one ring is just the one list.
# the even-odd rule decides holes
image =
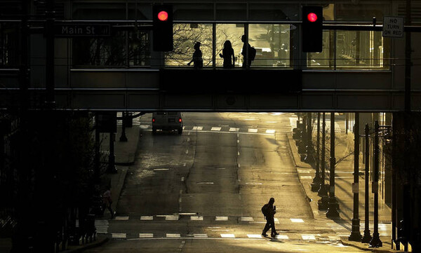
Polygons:
[[323,8],[302,6],[302,51],[323,50]]

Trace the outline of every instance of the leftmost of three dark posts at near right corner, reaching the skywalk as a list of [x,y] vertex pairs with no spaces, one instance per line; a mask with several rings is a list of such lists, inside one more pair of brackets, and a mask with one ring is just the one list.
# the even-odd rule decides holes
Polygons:
[[354,218],[352,219],[352,232],[349,240],[361,241],[360,220],[359,220],[359,113],[355,113],[354,125],[354,184],[352,192],[354,193]]

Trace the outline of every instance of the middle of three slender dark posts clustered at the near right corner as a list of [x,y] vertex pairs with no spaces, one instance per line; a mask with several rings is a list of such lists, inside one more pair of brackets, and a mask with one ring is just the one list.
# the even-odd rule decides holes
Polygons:
[[370,212],[368,209],[368,206],[370,205],[370,201],[368,198],[368,173],[370,173],[369,171],[369,164],[370,164],[370,139],[368,139],[368,135],[369,135],[369,131],[370,128],[368,128],[368,124],[366,124],[366,128],[365,128],[365,133],[366,133],[366,158],[364,159],[366,162],[366,171],[364,172],[364,176],[366,177],[365,181],[366,181],[366,185],[365,185],[365,201],[364,201],[364,207],[365,207],[365,219],[364,219],[364,236],[361,239],[361,242],[363,243],[368,243],[371,241],[371,235],[370,235],[370,223],[369,223],[369,219],[370,219]]

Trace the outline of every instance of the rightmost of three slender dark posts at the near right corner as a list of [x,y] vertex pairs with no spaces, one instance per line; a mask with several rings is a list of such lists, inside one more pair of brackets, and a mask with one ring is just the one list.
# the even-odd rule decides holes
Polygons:
[[379,236],[379,121],[374,125],[374,171],[373,186],[374,193],[374,231],[373,239],[370,241],[370,247],[382,247],[382,241]]

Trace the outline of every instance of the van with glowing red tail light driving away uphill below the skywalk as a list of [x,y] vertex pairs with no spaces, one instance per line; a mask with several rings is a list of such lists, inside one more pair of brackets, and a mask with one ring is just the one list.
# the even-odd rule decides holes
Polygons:
[[182,116],[178,111],[156,111],[152,114],[152,134],[156,130],[177,130],[182,134]]

